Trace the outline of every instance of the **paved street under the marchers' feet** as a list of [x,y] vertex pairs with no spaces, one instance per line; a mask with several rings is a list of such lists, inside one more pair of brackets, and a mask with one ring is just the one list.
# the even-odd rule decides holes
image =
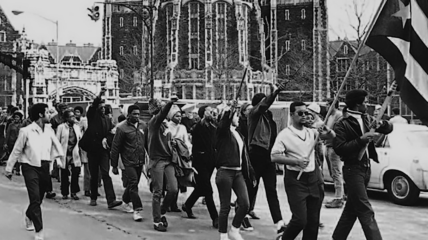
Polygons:
[[[0,173],[0,232],[1,240],[30,240],[33,234],[25,231],[23,212],[28,204],[28,197],[23,178],[14,176],[12,182],[3,177],[4,168]],[[116,193],[123,192],[120,179],[115,176]],[[147,183],[140,184],[141,196],[144,204],[144,221],[136,223],[132,214],[125,214],[118,210],[107,210],[104,198],[99,199],[97,207],[88,206],[89,199],[82,197],[79,201],[62,200],[59,192],[59,183],[54,181],[55,192],[59,195],[56,200],[45,200],[43,203],[43,218],[45,236],[47,240],[101,240],[101,239],[218,239],[218,233],[211,227],[208,212],[200,201],[194,209],[197,220],[183,218],[183,213],[169,214],[170,227],[167,233],[157,233],[152,227],[151,195]],[[262,185],[261,185],[262,187]],[[191,189],[189,189],[191,191]],[[278,190],[283,216],[290,218],[282,177],[278,176]],[[104,195],[104,191],[101,191]],[[187,193],[189,194],[189,193]],[[217,194],[217,193],[216,193]],[[326,199],[332,197],[332,187],[327,187]],[[387,199],[384,192],[371,192],[371,201],[376,212],[380,229],[384,239],[388,240],[418,240],[425,239],[428,234],[428,195],[423,194],[421,201],[415,207],[395,205]],[[181,194],[179,204],[185,200]],[[215,196],[218,199],[218,196]],[[218,206],[218,201],[216,202]],[[233,211],[232,211],[233,212]],[[247,240],[275,239],[275,229],[271,222],[266,203],[264,190],[259,191],[256,212],[261,220],[253,220],[255,230],[242,233]],[[341,210],[322,209],[321,221],[325,227],[321,229],[319,239],[331,239],[331,233],[341,214]],[[229,222],[230,224],[230,222]],[[357,222],[349,239],[364,239],[361,226]]]

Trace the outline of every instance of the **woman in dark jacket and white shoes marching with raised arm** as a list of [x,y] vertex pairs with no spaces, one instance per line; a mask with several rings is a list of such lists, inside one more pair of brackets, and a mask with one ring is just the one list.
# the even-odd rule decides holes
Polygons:
[[[249,198],[245,181],[256,183],[244,138],[236,131],[239,125],[237,102],[231,109],[225,109],[219,122],[216,140],[216,185],[220,196],[219,232],[220,239],[242,240],[239,227],[248,213]],[[227,234],[227,220],[230,212],[232,190],[237,196],[238,208]]]

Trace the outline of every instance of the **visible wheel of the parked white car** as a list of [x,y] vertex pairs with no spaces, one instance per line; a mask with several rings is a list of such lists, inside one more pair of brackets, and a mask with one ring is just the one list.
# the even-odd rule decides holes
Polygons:
[[397,173],[389,178],[387,190],[396,204],[413,205],[419,199],[419,188],[403,173]]

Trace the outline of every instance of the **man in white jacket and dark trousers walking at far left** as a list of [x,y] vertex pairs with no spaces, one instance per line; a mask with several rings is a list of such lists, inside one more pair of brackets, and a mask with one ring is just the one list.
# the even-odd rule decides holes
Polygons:
[[51,159],[63,157],[62,146],[48,124],[48,105],[37,103],[31,107],[33,123],[19,131],[15,147],[6,166],[6,176],[12,178],[12,169],[17,161],[21,163],[30,204],[25,212],[25,226],[36,232],[35,240],[43,240],[43,220],[40,205],[50,182]]

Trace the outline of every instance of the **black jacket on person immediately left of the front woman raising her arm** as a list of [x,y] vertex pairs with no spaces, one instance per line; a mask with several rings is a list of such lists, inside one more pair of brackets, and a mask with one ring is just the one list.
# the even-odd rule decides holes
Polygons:
[[213,123],[201,120],[192,131],[193,166],[214,166],[215,137],[217,127]]

